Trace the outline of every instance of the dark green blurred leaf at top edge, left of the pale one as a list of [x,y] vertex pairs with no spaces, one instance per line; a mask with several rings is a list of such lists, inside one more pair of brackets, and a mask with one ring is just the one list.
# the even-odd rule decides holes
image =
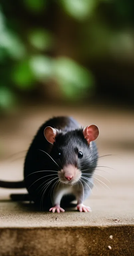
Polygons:
[[46,0],[24,0],[25,6],[33,12],[41,12],[46,4]]

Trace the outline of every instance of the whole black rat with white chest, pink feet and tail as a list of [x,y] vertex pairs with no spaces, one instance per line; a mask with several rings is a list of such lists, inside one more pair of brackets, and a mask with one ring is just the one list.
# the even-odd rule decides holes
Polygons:
[[0,186],[26,187],[32,201],[53,213],[64,212],[61,206],[74,199],[80,212],[91,212],[83,201],[94,185],[98,160],[94,140],[98,135],[94,124],[84,129],[72,117],[49,119],[39,128],[28,149],[24,181],[0,181]]

